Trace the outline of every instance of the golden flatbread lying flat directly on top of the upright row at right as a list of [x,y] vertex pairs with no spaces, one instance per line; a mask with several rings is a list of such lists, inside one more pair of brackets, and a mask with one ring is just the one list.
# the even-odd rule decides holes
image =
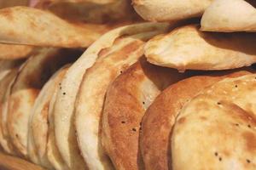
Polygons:
[[255,33],[211,33],[182,26],[145,45],[150,63],[179,71],[226,70],[256,62]]

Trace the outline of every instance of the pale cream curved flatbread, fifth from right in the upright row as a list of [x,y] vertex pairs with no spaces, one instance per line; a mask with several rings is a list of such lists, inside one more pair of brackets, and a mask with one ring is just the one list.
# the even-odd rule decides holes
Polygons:
[[[79,169],[80,166],[84,168],[85,165],[73,127],[73,111],[79,85],[86,70],[94,65],[96,59],[105,58],[108,54],[119,51],[125,44],[133,41],[136,37],[132,35],[144,34],[145,37],[152,37],[167,31],[169,26],[169,24],[143,23],[109,31],[94,42],[67,71],[67,75],[61,82],[61,90],[57,94],[54,112],[56,144],[68,167]],[[122,38],[124,36],[131,38],[125,40]],[[123,43],[117,43],[121,40]],[[113,43],[119,45],[113,45]]]

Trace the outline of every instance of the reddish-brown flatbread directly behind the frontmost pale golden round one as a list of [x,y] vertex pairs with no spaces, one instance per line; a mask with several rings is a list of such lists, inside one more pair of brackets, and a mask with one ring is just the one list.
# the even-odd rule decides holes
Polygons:
[[250,72],[237,71],[230,74],[230,71],[222,71],[218,74],[209,72],[204,74],[171,85],[149,106],[143,116],[140,135],[140,148],[146,169],[168,169],[169,135],[177,114],[185,103],[214,82],[225,77],[240,77]]

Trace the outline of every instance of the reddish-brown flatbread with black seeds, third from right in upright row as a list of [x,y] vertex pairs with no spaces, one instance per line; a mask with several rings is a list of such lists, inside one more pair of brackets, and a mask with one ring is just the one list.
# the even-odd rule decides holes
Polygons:
[[161,90],[183,77],[185,74],[151,65],[143,58],[108,87],[102,113],[102,145],[115,169],[143,168],[138,136],[144,112]]

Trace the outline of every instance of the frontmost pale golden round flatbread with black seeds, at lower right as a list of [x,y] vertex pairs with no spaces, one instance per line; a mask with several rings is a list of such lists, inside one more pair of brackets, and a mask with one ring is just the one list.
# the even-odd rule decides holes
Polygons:
[[226,78],[183,106],[171,135],[172,169],[256,168],[255,77]]

